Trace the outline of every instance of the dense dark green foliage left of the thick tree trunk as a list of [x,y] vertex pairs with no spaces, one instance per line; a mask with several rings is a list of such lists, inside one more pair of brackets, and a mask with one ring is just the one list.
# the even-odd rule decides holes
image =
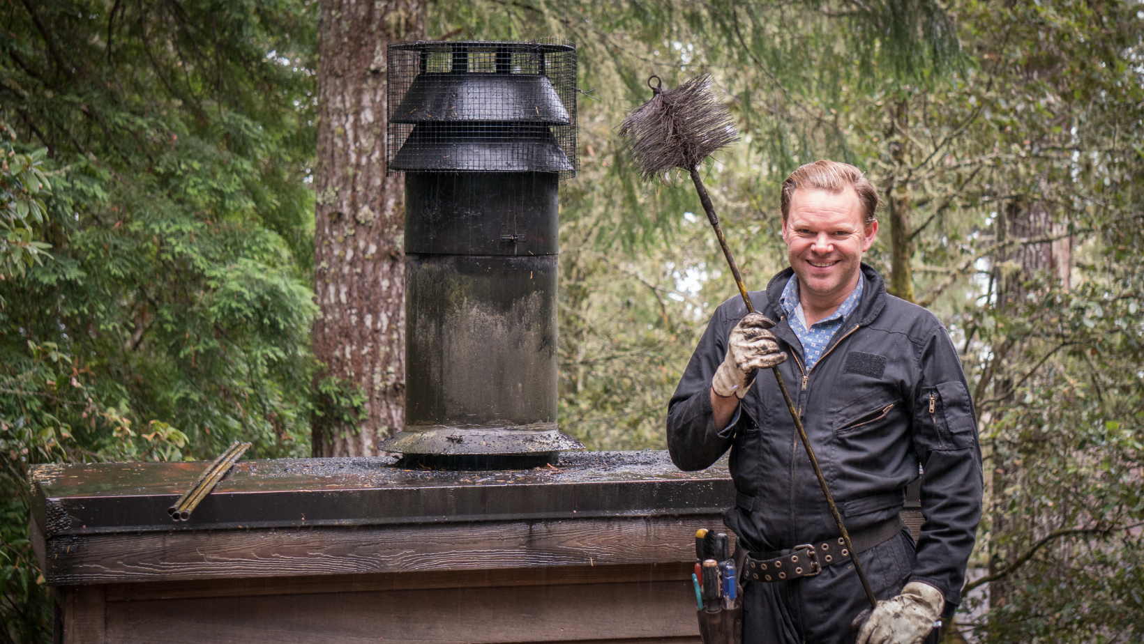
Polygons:
[[29,466],[309,453],[317,15],[50,0],[3,19],[0,641],[34,642]]

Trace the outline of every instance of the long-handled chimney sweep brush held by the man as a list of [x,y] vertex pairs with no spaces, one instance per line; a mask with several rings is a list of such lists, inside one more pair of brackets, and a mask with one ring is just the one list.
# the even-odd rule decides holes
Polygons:
[[[656,85],[652,85],[652,80],[656,81]],[[699,176],[699,164],[724,145],[739,140],[731,114],[715,100],[710,90],[710,77],[705,74],[696,77],[675,89],[664,90],[660,78],[652,75],[648,79],[648,87],[652,92],[651,101],[636,108],[623,119],[623,124],[620,126],[620,136],[627,142],[644,180],[666,181],[667,175],[674,169],[688,173],[692,183],[696,184],[699,201],[707,213],[707,221],[715,229],[715,237],[718,238],[718,244],[723,248],[723,256],[726,257],[726,263],[731,267],[731,275],[734,276],[742,303],[747,305],[748,312],[754,313],[755,307],[750,303],[750,297],[747,296],[742,275],[739,273],[739,267],[734,263],[734,257],[731,256],[731,249],[726,245],[726,238],[723,237],[723,229],[720,228],[715,207],[707,194],[707,188],[704,186],[702,177]],[[770,326],[774,326],[774,323],[770,320],[768,323]],[[799,411],[791,399],[791,392],[782,381],[778,366],[771,367],[771,371],[774,373],[779,391],[782,392],[782,399],[786,400],[799,438],[802,439],[802,446],[807,450],[807,456],[815,469],[815,476],[818,477],[818,485],[826,496],[826,504],[831,508],[834,523],[839,526],[847,549],[852,552],[851,560],[855,571],[858,573],[858,579],[861,580],[866,598],[873,609],[877,605],[874,590],[858,562],[858,554],[855,552],[853,543],[850,541],[850,533],[847,532],[842,515],[834,504],[834,498],[826,485],[826,478],[823,477],[823,470],[818,467],[818,459],[815,458],[807,430],[802,427]],[[861,615],[859,615],[860,618]]]

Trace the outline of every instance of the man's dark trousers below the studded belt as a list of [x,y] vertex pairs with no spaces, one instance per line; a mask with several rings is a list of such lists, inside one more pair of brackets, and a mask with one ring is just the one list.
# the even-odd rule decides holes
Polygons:
[[[858,555],[874,595],[889,599],[909,580],[914,541],[907,531]],[[853,644],[850,623],[869,607],[853,564],[816,577],[747,583],[742,596],[744,644]],[[935,630],[925,642],[937,642]]]

